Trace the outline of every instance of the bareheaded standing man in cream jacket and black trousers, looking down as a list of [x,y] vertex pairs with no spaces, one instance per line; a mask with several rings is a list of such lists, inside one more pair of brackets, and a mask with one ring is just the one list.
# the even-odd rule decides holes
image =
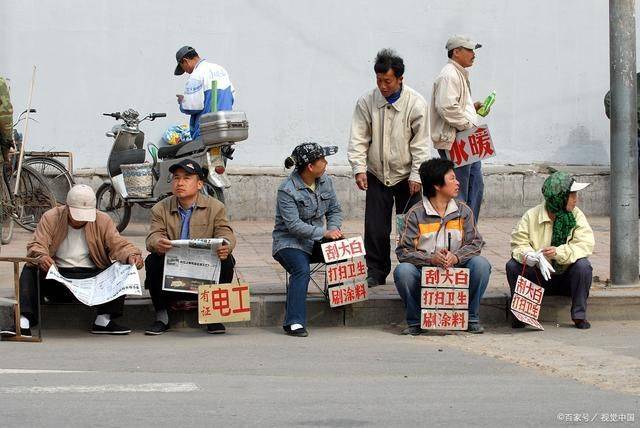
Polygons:
[[377,88],[358,100],[347,156],[356,184],[367,192],[364,244],[369,287],[391,272],[392,209],[400,214],[420,200],[420,164],[430,156],[427,103],[403,84],[404,61],[394,51],[378,52]]

